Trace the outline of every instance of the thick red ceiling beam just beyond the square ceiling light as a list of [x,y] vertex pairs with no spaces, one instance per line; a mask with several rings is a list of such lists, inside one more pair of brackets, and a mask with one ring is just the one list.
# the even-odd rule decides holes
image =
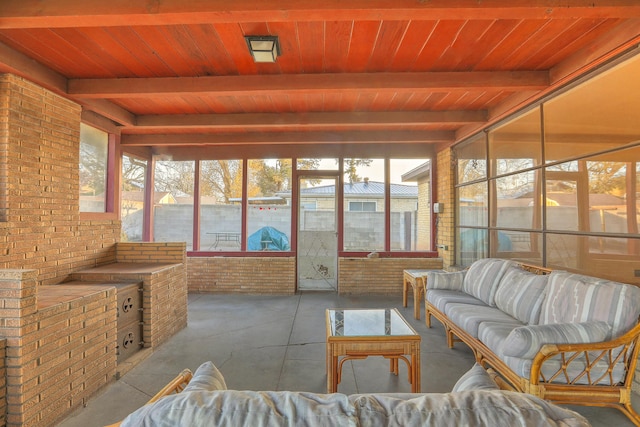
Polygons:
[[472,71],[70,79],[68,92],[78,98],[132,98],[189,94],[252,96],[269,93],[345,91],[515,91],[542,90],[548,86],[549,75],[546,71]]

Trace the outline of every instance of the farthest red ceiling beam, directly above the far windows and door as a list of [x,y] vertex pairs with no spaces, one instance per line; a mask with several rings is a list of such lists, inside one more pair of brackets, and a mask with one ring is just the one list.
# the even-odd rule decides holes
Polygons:
[[122,146],[208,146],[261,144],[389,144],[452,142],[450,131],[238,132],[122,135]]

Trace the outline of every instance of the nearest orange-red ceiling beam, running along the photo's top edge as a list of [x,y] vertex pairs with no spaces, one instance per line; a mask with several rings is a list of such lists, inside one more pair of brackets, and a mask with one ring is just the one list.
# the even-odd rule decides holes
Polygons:
[[0,28],[69,28],[324,20],[640,17],[637,0],[2,0]]

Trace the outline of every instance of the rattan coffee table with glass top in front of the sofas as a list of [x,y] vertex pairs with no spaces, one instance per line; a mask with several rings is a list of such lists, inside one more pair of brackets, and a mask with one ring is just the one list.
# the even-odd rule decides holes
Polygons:
[[338,391],[347,360],[382,356],[398,375],[407,364],[411,392],[420,392],[420,335],[397,309],[331,309],[327,320],[327,392]]

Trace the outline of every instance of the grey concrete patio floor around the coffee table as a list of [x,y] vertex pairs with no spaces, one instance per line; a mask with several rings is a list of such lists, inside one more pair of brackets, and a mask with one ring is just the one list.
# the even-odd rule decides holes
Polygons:
[[[422,336],[422,391],[450,391],[474,363],[464,345],[448,349],[444,329],[434,321],[413,318],[412,302],[402,298],[341,297],[335,293],[295,296],[189,295],[189,325],[161,345],[118,381],[58,424],[59,427],[103,426],[142,406],[184,368],[194,370],[211,360],[229,389],[326,392],[325,308],[396,307]],[[389,373],[381,357],[348,361],[338,391],[409,392],[407,371]],[[636,403],[634,401],[634,403]],[[638,402],[640,403],[640,401]],[[638,407],[636,405],[636,407]],[[571,407],[598,426],[631,426],[618,410]]]

